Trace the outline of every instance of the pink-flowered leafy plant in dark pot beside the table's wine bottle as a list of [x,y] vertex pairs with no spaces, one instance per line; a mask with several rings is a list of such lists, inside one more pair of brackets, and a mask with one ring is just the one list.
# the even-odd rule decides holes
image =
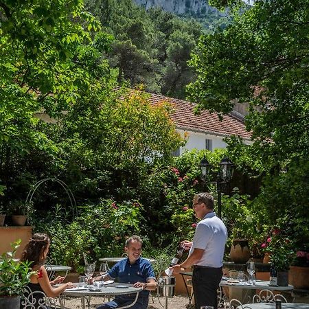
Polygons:
[[269,253],[271,264],[277,271],[277,285],[288,286],[288,270],[295,259],[293,242],[283,231],[273,229],[266,242],[262,244],[265,252]]

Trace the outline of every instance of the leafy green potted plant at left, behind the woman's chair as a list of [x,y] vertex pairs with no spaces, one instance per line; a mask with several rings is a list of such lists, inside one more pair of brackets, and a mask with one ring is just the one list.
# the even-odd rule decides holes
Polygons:
[[30,282],[30,262],[19,262],[14,259],[16,249],[21,244],[18,240],[11,244],[13,251],[3,253],[0,258],[0,309],[20,308],[23,288]]

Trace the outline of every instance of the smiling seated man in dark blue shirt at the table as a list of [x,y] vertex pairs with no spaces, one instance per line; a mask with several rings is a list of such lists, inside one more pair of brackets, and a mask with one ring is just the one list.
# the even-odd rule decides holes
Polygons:
[[[133,286],[143,290],[139,292],[139,297],[132,309],[146,309],[148,306],[149,291],[157,288],[155,273],[148,260],[141,258],[141,245],[143,240],[139,236],[131,236],[126,240],[124,250],[128,258],[119,261],[106,276],[108,279],[118,279],[120,283],[133,284]],[[97,309],[112,309],[128,306],[135,300],[134,294],[117,295],[113,301],[99,306]]]

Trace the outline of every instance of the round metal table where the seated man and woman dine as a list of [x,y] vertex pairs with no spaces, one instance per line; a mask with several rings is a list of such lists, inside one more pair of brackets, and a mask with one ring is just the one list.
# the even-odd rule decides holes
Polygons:
[[[80,284],[77,284],[79,286]],[[128,286],[127,288],[117,288],[117,286]],[[73,297],[80,297],[81,302],[82,302],[82,309],[86,308],[86,301],[88,304],[88,308],[90,308],[90,298],[91,296],[101,296],[101,297],[115,297],[116,295],[128,295],[128,294],[135,294],[135,299],[132,304],[129,306],[122,306],[119,307],[119,309],[124,309],[124,308],[130,308],[132,307],[136,301],[137,298],[139,297],[139,292],[141,292],[143,288],[135,288],[132,284],[119,284],[119,283],[113,283],[113,284],[108,284],[108,286],[103,286],[100,288],[100,290],[76,290],[74,288],[70,289],[67,288],[67,290],[63,291],[59,297],[59,302],[60,302],[60,308],[64,309],[65,308],[65,297],[66,296],[73,296]]]

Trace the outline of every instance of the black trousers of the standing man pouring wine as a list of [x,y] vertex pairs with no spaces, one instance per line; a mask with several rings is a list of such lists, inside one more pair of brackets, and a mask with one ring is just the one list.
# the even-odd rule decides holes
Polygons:
[[217,290],[222,279],[222,268],[199,268],[193,269],[192,286],[194,293],[195,308],[201,306],[213,306],[218,308]]

